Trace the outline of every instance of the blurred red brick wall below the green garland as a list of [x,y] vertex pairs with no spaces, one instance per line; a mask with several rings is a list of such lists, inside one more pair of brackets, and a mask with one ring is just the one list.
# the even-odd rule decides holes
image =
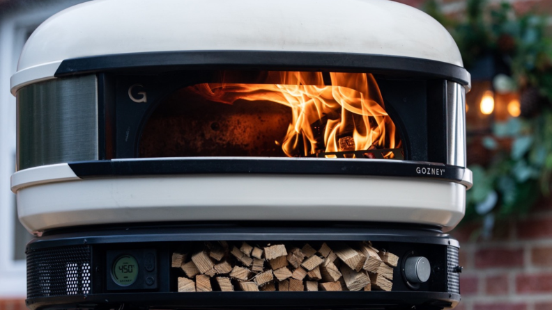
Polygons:
[[490,240],[478,225],[453,231],[460,241],[462,310],[552,310],[552,199],[519,220],[497,222]]

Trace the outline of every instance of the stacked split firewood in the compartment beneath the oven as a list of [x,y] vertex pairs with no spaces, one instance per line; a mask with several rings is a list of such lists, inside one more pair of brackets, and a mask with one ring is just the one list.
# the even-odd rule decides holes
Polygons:
[[181,268],[179,292],[206,291],[391,291],[399,258],[369,242],[323,243],[314,249],[225,241],[172,254]]

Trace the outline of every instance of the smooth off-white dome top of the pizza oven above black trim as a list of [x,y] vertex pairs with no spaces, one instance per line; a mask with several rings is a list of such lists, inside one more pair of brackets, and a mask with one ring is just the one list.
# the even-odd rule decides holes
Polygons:
[[15,94],[52,79],[70,58],[237,50],[373,54],[463,65],[443,26],[394,1],[98,0],[41,24],[25,44],[11,87]]

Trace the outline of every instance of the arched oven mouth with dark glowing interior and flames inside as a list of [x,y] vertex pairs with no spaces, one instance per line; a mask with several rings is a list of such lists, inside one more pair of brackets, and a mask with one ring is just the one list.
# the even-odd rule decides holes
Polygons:
[[141,157],[404,159],[372,74],[226,71],[214,80],[158,105]]

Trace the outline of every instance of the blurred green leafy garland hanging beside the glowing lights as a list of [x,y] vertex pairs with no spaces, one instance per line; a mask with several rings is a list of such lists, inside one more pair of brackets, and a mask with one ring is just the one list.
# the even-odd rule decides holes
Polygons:
[[[521,92],[522,117],[494,124],[493,133],[482,139],[493,150],[489,165],[468,167],[474,186],[466,197],[466,221],[482,220],[483,234],[489,235],[496,219],[526,213],[539,197],[549,195],[552,42],[545,34],[546,18],[517,16],[509,3],[488,6],[483,0],[468,0],[464,20],[446,17],[434,0],[424,10],[450,31],[466,67],[486,55],[498,56],[512,70],[512,76],[500,78]],[[498,142],[504,139],[511,139],[512,146]]]

